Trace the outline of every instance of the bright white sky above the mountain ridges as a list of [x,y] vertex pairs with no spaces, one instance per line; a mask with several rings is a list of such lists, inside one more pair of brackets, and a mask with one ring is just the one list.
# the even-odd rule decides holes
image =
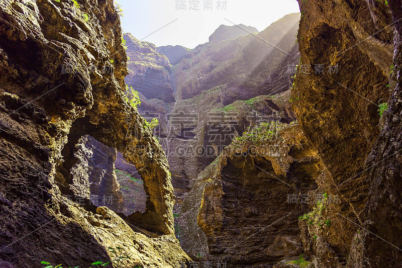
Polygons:
[[[116,0],[123,32],[156,46],[194,48],[222,24],[263,31],[283,16],[300,12],[296,0]],[[226,2],[226,4],[225,4]],[[185,9],[184,9],[185,8]]]

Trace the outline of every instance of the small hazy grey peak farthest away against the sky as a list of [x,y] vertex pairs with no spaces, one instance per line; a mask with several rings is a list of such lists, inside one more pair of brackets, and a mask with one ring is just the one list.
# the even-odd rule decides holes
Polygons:
[[218,29],[210,36],[210,42],[221,42],[225,40],[235,39],[242,35],[249,35],[253,33],[258,33],[258,30],[251,26],[245,26],[243,24],[227,26],[221,25]]

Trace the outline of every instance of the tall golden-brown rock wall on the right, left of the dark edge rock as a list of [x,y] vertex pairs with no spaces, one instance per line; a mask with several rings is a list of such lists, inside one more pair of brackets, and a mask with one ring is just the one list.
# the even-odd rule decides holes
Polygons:
[[[292,87],[296,100],[292,107],[327,169],[326,176],[317,182],[319,190],[340,198],[339,204],[327,204],[322,214],[314,216],[315,222],[330,219],[329,229],[309,226],[308,220],[300,223],[305,250],[311,252],[318,267],[400,265],[398,250],[393,247],[391,253],[389,244],[378,238],[398,243],[391,238],[396,235],[391,230],[397,232],[396,218],[388,221],[387,227],[386,217],[381,216],[398,211],[391,201],[383,201],[392,194],[385,194],[380,187],[381,177],[386,176],[385,165],[391,161],[381,161],[388,157],[383,158],[387,149],[380,144],[386,146],[381,141],[385,141],[385,133],[393,135],[392,131],[383,130],[372,149],[380,134],[378,105],[387,102],[389,88],[395,86],[389,80],[393,38],[390,4],[357,0],[299,2],[301,57]],[[400,3],[394,5],[400,8]],[[382,169],[369,164],[375,159],[381,161]],[[396,176],[397,171],[392,170],[392,174]],[[396,185],[391,188],[397,189]],[[313,212],[318,207],[312,207]],[[365,245],[366,239],[372,242]]]

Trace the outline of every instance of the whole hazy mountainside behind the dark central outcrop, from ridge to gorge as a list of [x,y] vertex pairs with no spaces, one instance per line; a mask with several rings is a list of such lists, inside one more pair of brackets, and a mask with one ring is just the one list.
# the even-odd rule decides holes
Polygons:
[[[190,51],[191,58],[172,68],[178,101],[169,112],[166,142],[161,143],[172,167],[176,196],[188,192],[198,173],[256,118],[293,120],[290,97],[284,92],[292,75],[286,67],[298,61],[298,19],[298,14],[288,15],[257,36],[199,46]],[[288,52],[266,42],[279,42]],[[278,93],[277,98],[262,96]],[[257,96],[261,97],[253,99]]]

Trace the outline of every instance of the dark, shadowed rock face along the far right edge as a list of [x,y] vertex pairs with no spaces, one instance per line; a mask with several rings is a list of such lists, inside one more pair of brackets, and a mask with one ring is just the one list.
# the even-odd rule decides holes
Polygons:
[[[379,8],[378,3],[373,3]],[[402,265],[402,177],[401,163],[401,87],[402,87],[402,6],[399,1],[388,1],[395,25],[394,58],[392,79],[397,81],[388,102],[389,109],[384,112],[384,125],[365,163],[369,177],[370,192],[366,204],[367,220],[365,227],[370,231],[356,234],[363,242],[357,242],[360,250],[351,257],[354,263],[364,267]],[[382,239],[372,235],[375,233]],[[385,241],[386,242],[385,242]]]

